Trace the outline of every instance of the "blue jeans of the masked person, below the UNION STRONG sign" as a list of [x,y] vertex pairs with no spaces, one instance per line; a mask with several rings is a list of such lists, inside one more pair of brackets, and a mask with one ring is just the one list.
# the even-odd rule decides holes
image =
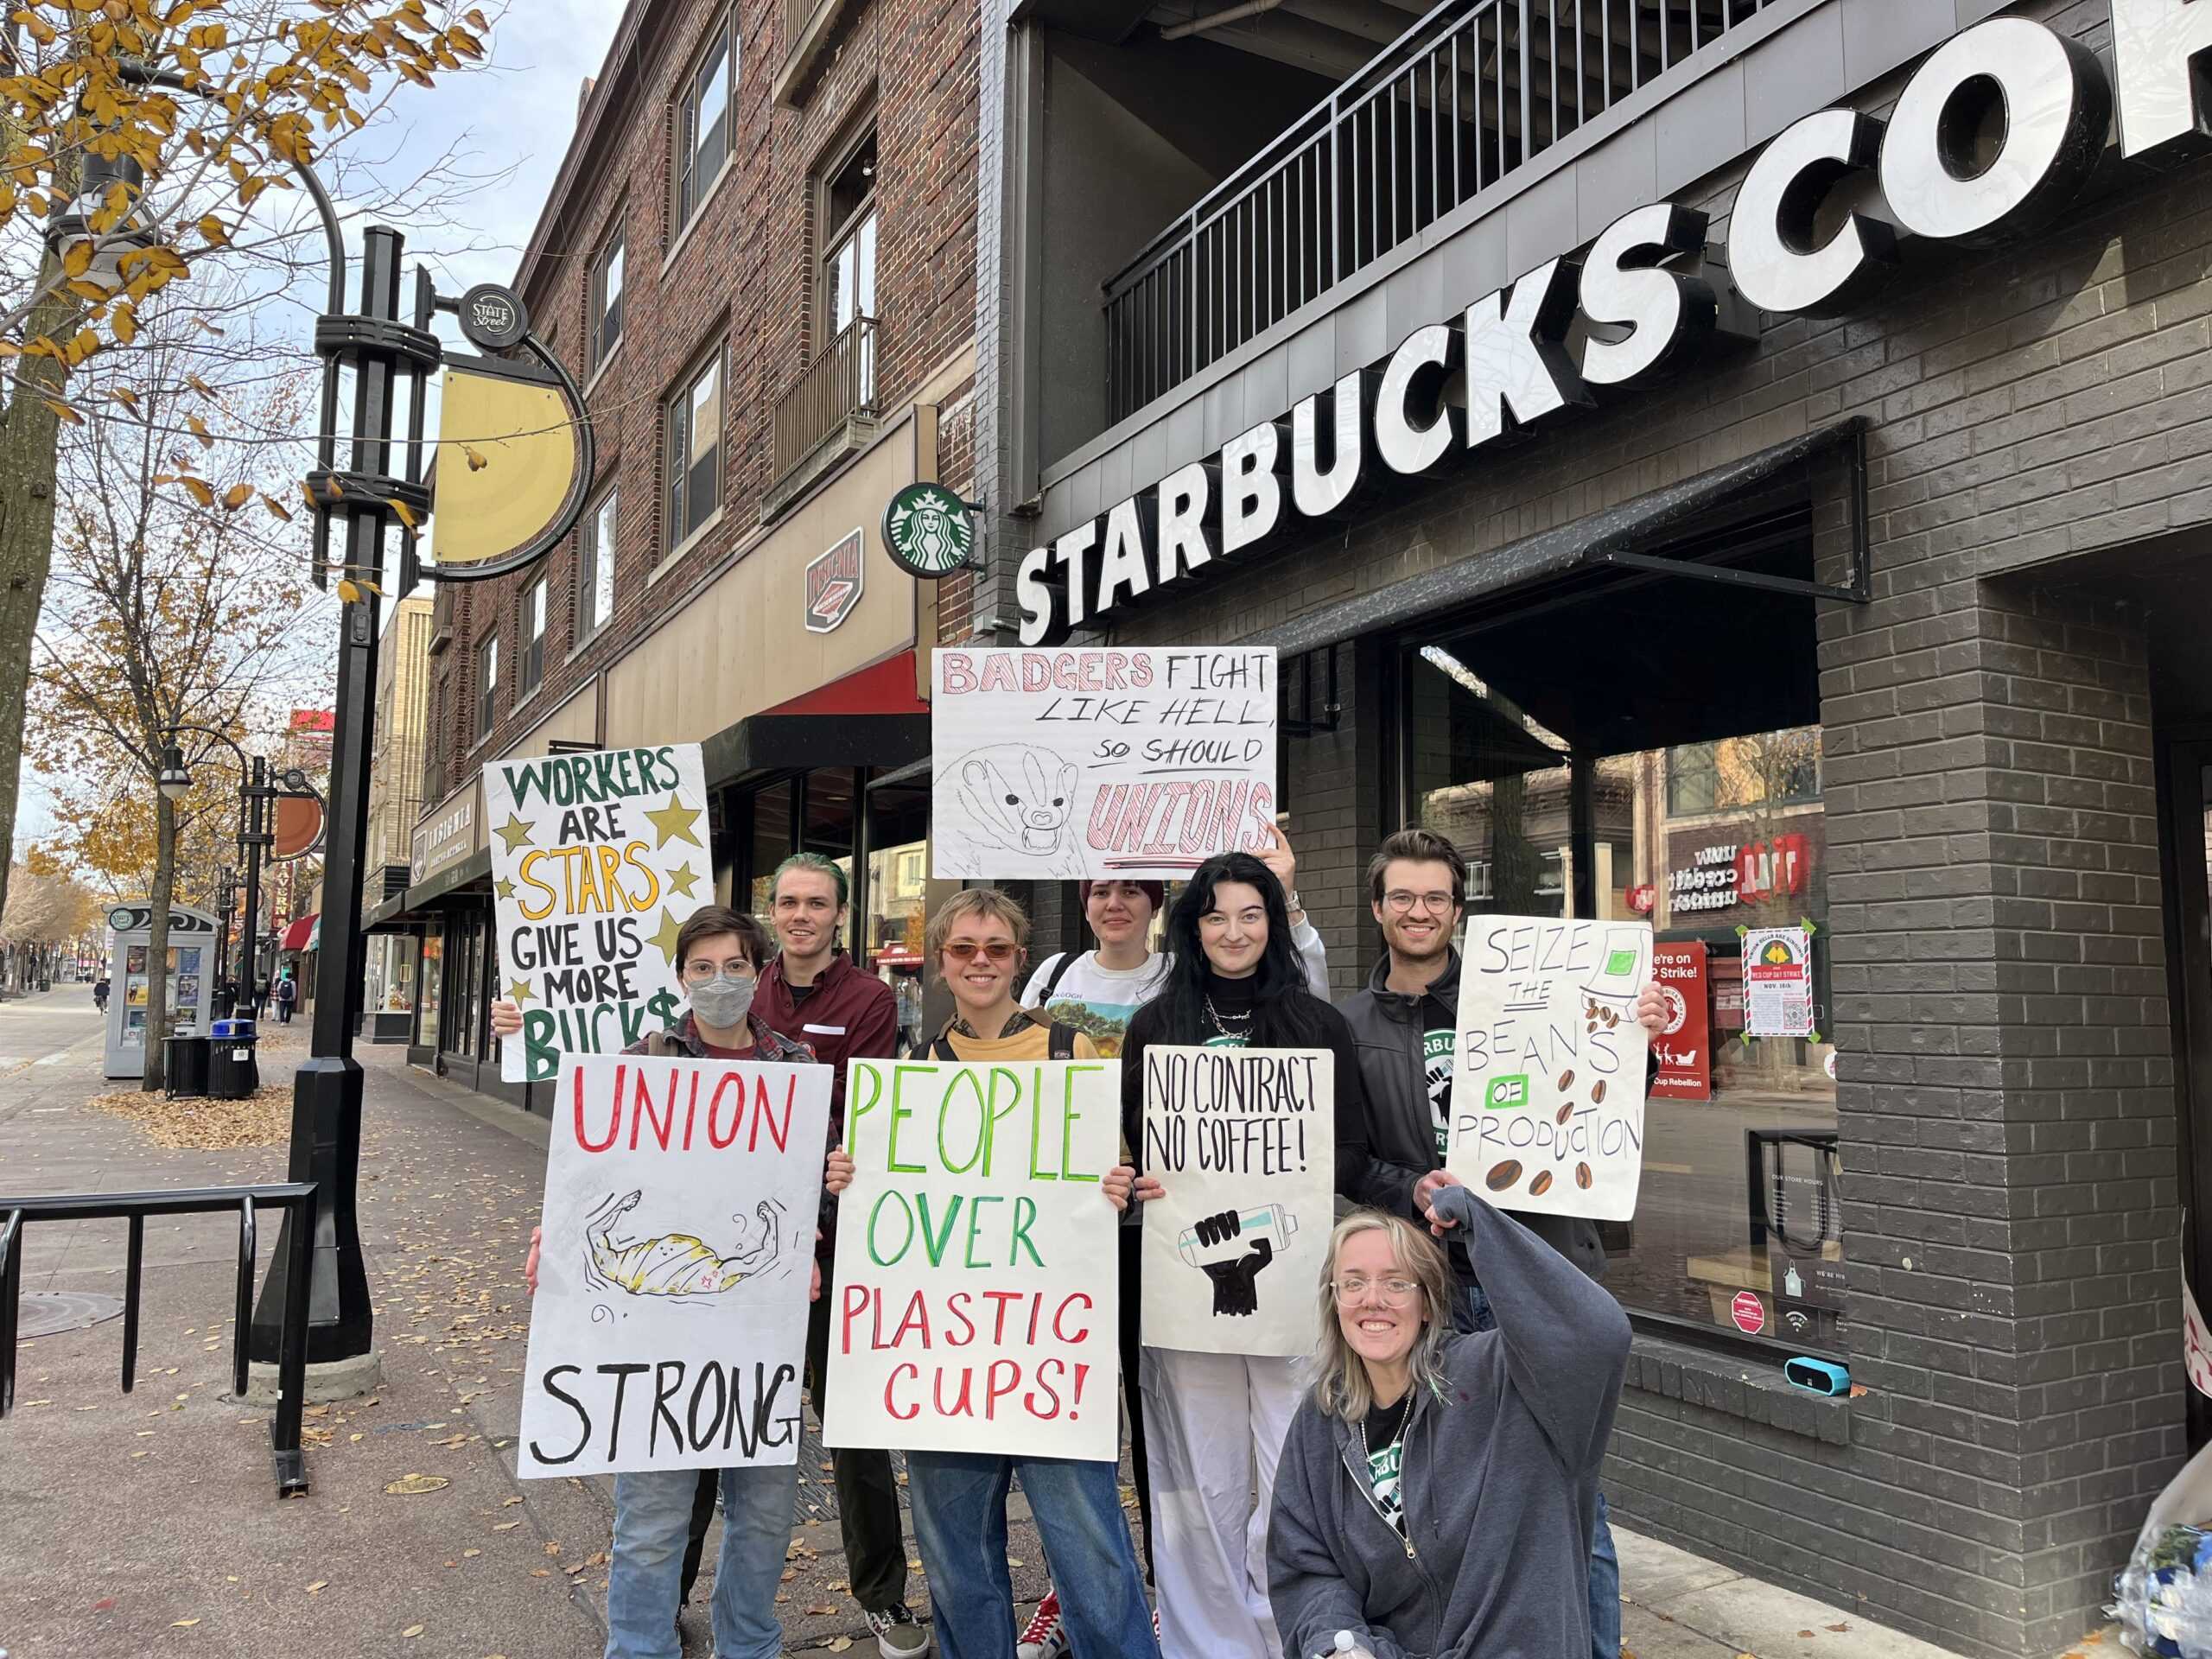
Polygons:
[[[697,1469],[615,1475],[615,1559],[606,1579],[606,1659],[681,1659],[677,1597]],[[792,1542],[799,1464],[721,1471],[714,1562],[717,1659],[779,1659],[776,1584]]]

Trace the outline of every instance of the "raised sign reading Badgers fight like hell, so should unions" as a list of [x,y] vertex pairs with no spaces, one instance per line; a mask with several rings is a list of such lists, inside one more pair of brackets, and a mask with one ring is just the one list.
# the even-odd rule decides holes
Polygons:
[[1272,648],[938,650],[938,878],[1172,880],[1274,845]]

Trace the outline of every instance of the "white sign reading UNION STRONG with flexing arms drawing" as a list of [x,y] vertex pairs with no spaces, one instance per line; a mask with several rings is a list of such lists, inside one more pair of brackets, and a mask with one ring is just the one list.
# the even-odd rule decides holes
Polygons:
[[562,1055],[520,1473],[799,1460],[830,1082]]

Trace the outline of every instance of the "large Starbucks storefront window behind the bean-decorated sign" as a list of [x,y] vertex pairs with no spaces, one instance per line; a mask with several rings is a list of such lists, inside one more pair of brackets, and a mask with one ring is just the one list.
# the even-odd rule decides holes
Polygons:
[[[1652,922],[1672,1029],[1652,1042],[1635,1219],[1604,1223],[1606,1287],[1632,1310],[1843,1347],[1812,624],[1794,602],[1668,586],[1699,588],[1407,650],[1405,816],[1467,856],[1471,914]],[[1701,626],[1670,628],[1666,606],[1697,599]],[[1776,648],[1790,639],[1801,655]],[[1752,1011],[1747,940],[1767,969]]]

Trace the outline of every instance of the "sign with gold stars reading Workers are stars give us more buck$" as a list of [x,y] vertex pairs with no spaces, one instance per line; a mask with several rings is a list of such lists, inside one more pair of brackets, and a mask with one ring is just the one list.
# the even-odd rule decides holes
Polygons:
[[484,768],[500,993],[522,1035],[504,1082],[564,1053],[622,1053],[684,1006],[677,931],[714,902],[697,743],[493,761]]

